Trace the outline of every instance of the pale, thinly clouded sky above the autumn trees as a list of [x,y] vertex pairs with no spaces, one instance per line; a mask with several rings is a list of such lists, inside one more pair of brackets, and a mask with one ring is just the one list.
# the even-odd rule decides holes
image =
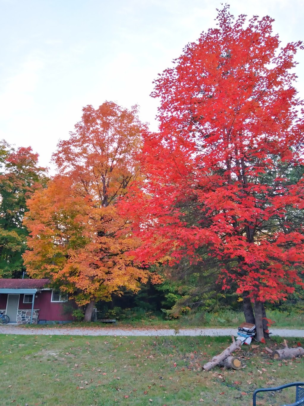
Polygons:
[[[234,15],[270,15],[282,45],[304,39],[304,0],[231,0]],[[157,129],[152,81],[215,26],[212,0],[0,0],[0,138],[49,166],[87,104],[138,104]],[[304,51],[295,58],[304,98]],[[52,172],[52,171],[51,171]]]

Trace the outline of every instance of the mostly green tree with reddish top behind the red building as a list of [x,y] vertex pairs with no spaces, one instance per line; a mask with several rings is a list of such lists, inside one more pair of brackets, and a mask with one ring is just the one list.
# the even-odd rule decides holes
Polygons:
[[0,277],[18,278],[25,271],[22,254],[28,230],[22,224],[26,201],[45,186],[45,168],[30,147],[17,150],[0,143]]

